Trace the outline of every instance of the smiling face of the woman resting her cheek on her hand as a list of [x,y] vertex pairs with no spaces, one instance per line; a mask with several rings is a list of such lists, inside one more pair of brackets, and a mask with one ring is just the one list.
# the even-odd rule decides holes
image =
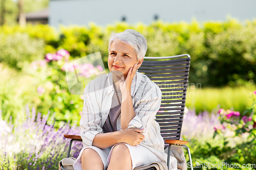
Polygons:
[[137,60],[134,49],[129,44],[118,40],[112,43],[109,52],[108,66],[114,75],[118,77],[123,75],[124,79],[126,79],[129,69],[133,67],[135,63],[138,63],[135,68],[138,69],[142,61],[143,58],[139,61]]

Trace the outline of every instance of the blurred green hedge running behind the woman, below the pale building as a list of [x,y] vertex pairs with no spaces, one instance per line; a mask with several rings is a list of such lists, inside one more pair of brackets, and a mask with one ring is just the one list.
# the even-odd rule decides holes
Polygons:
[[[108,41],[112,32],[135,29],[148,41],[146,56],[172,56],[189,54],[190,83],[202,87],[243,85],[256,82],[256,20],[242,24],[234,19],[224,22],[209,21],[202,26],[191,23],[153,22],[132,26],[116,23],[106,27],[61,27],[60,31],[47,25],[4,26],[1,35],[27,33],[31,38],[44,39],[45,53],[57,48],[68,50],[71,57],[82,57],[100,52],[107,67]],[[5,57],[0,56],[0,61]]]

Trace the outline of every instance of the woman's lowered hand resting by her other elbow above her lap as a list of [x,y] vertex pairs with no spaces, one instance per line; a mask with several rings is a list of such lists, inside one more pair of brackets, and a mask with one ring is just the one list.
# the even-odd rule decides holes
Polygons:
[[141,134],[141,132],[143,131],[144,129],[140,129],[140,128],[125,129],[121,131],[122,132],[121,142],[130,144],[132,146],[138,145],[145,138],[145,136]]

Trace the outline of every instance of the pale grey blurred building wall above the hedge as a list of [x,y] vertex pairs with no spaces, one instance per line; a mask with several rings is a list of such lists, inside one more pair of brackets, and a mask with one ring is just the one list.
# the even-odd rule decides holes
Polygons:
[[255,0],[51,0],[49,24],[108,25],[115,21],[127,23],[152,21],[226,20],[227,16],[239,20],[256,18]]

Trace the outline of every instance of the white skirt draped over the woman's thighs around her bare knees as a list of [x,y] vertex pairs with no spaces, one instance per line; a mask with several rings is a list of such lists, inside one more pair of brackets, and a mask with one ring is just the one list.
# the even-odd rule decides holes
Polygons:
[[[117,144],[120,144],[120,143],[117,143]],[[117,144],[115,144],[115,145],[117,145]],[[126,147],[129,149],[131,159],[132,159],[132,169],[134,169],[135,167],[139,167],[139,166],[151,163],[151,162],[162,162],[162,160],[156,154],[154,154],[147,148],[143,147],[142,145],[132,146],[127,143],[123,143],[123,144],[125,144]],[[76,161],[73,164],[74,170],[82,170],[81,154],[87,148],[91,148],[99,154],[99,156],[104,164],[104,170],[105,170],[106,168],[108,168],[108,165],[110,163],[110,158],[111,158],[113,147],[106,148],[104,150],[101,150],[94,146],[82,148],[79,153],[79,156],[77,157]],[[177,162],[176,162],[176,164],[177,164]]]

